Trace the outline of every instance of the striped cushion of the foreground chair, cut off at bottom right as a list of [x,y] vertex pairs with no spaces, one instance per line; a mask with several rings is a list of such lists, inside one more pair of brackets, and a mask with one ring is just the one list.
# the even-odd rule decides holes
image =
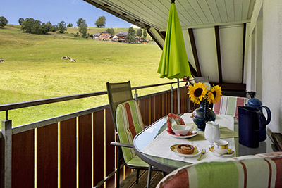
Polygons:
[[157,187],[282,187],[282,152],[188,165],[164,177]]

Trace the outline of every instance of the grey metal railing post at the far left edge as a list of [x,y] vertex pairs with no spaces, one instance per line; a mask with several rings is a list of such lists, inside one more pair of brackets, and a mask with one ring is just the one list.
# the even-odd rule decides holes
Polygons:
[[12,187],[12,120],[2,120],[1,187]]

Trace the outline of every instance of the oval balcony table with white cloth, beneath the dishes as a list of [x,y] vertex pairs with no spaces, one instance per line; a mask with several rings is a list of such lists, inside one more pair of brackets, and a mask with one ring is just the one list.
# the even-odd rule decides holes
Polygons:
[[[185,121],[186,125],[189,123],[192,125],[192,119],[190,118],[190,115],[191,113],[185,113],[181,116],[181,118],[183,118],[183,120]],[[238,132],[238,122],[234,121],[232,116],[216,115],[216,121],[220,119],[229,120],[229,122],[227,121],[229,125],[226,125],[226,122],[225,123],[219,122],[220,126],[225,124],[225,126],[221,128],[228,127],[228,129],[230,129],[231,132],[233,132],[232,130],[234,130],[234,132]],[[230,125],[230,124],[233,124],[233,125]],[[169,149],[169,146],[165,146],[165,144],[159,143],[159,140],[158,142],[156,141],[156,139],[157,138],[159,139],[160,137],[161,138],[166,137],[166,141],[171,137],[171,135],[168,135],[168,133],[166,132],[166,128],[167,128],[166,117],[163,117],[157,120],[156,122],[152,123],[152,125],[149,125],[149,127],[147,127],[145,130],[142,130],[142,132],[140,132],[139,134],[137,134],[135,138],[133,139],[133,148],[137,156],[139,156],[143,161],[145,161],[149,165],[152,165],[155,168],[163,170],[166,173],[171,173],[171,171],[176,170],[177,168],[183,167],[185,165],[190,165],[191,163],[195,163],[195,161],[197,161],[197,158],[199,156],[194,157],[194,158],[185,158],[185,160],[188,159],[188,161],[191,160],[193,162],[179,161],[178,156],[176,156],[178,160],[173,160],[173,158],[166,157],[167,155],[166,152],[172,153],[172,151],[170,151]],[[200,132],[199,130],[197,131]],[[203,132],[201,134],[203,134]],[[196,137],[200,137],[200,133],[199,135],[192,137],[192,138],[196,138]],[[203,137],[203,135],[201,137]],[[207,151],[207,153],[204,154],[206,158],[203,158],[201,161],[211,161],[214,158],[220,158],[220,157],[214,156],[214,154],[212,154],[209,151],[209,146],[211,144],[207,140],[199,140],[199,141],[195,140],[194,142],[191,142],[190,138],[189,139],[178,139],[178,138],[171,137],[171,140],[173,139],[174,139],[174,142],[176,142],[176,139],[177,139],[178,140],[177,142],[179,142],[179,144],[180,143],[187,143],[187,144],[192,143],[193,145],[200,144],[200,146],[198,147],[200,149],[205,148]],[[255,148],[255,149],[249,148],[247,146],[243,146],[242,144],[240,144],[238,142],[238,137],[223,138],[223,139],[226,139],[229,142],[230,148],[235,150],[235,156],[254,155],[257,153],[270,153],[270,152],[277,151],[276,146],[274,146],[273,142],[271,142],[271,139],[269,137],[267,137],[264,142],[259,142],[259,148]],[[158,143],[159,145],[152,144],[153,141],[154,143]],[[202,148],[201,148],[202,146],[201,144],[204,145]],[[143,153],[143,151],[147,149],[148,146],[150,147],[151,145],[153,145],[152,149],[154,149],[154,151],[158,149],[161,150],[161,152],[157,151],[157,153],[160,153],[159,156],[152,156],[152,155]],[[164,153],[164,157],[161,157],[163,155],[162,153]],[[168,154],[171,155],[170,153]]]

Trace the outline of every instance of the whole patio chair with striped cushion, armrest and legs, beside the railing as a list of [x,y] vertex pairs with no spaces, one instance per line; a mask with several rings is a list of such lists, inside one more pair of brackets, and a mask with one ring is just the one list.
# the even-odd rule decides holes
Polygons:
[[137,170],[136,183],[138,183],[140,170],[148,170],[147,187],[151,179],[151,170],[157,170],[140,159],[133,150],[133,138],[144,130],[140,108],[133,99],[130,81],[121,83],[106,83],[109,96],[111,115],[114,120],[117,142],[111,145],[117,149],[117,178],[116,186],[119,187],[119,167],[121,161],[128,168]]

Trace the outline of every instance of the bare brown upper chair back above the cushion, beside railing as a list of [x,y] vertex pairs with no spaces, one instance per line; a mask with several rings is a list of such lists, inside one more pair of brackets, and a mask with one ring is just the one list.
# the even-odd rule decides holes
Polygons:
[[120,83],[106,82],[106,90],[108,92],[111,115],[113,116],[114,126],[116,128],[116,108],[118,104],[133,100],[130,81]]

